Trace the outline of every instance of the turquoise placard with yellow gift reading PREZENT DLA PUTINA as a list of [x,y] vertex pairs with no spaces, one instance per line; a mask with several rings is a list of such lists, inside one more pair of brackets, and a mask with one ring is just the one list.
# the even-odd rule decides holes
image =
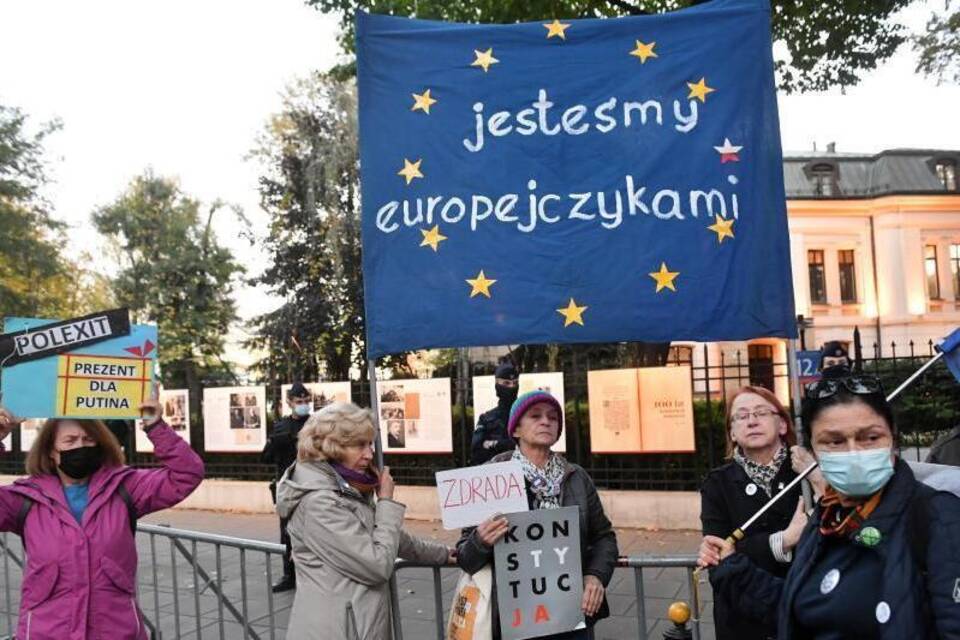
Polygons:
[[14,415],[139,417],[154,378],[155,326],[131,326],[126,310],[114,310],[71,320],[7,318],[4,332],[17,357],[0,385]]

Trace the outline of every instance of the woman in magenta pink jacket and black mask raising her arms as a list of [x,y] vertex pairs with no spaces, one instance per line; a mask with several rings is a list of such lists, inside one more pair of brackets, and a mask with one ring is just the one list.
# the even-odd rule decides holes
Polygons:
[[[124,465],[99,420],[47,420],[27,456],[28,477],[0,487],[0,531],[26,550],[19,640],[146,640],[136,601],[136,517],[173,506],[203,479],[203,461],[140,407],[158,469]],[[20,420],[0,407],[0,440]]]

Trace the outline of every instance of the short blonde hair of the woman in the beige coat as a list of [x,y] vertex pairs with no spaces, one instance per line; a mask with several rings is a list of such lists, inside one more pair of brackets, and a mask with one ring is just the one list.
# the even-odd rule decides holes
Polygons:
[[374,438],[373,413],[355,404],[336,402],[307,418],[297,439],[297,460],[340,462],[343,448]]

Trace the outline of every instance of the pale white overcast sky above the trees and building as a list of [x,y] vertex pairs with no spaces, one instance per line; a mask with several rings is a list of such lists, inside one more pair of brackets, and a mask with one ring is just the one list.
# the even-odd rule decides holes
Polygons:
[[[919,26],[928,13],[903,19]],[[0,103],[63,121],[47,195],[84,247],[97,245],[90,212],[148,166],[191,195],[241,205],[262,233],[258,167],[244,156],[283,87],[339,55],[335,19],[301,0],[3,0],[0,24]],[[781,97],[784,150],[960,149],[960,87],[917,75],[914,60],[904,47],[845,95]],[[235,229],[224,212],[221,240],[255,273],[264,256]],[[244,318],[273,304],[239,296]]]

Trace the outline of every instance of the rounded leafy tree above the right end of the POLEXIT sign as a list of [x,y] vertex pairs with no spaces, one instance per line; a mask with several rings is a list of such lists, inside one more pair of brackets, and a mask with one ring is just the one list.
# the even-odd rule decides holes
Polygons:
[[[135,322],[157,324],[163,383],[189,388],[191,407],[200,406],[204,385],[235,381],[222,354],[237,319],[236,278],[244,270],[212,228],[224,208],[217,201],[203,212],[176,181],[147,171],[92,215],[116,252],[118,302]],[[233,213],[246,223],[242,212]]]

